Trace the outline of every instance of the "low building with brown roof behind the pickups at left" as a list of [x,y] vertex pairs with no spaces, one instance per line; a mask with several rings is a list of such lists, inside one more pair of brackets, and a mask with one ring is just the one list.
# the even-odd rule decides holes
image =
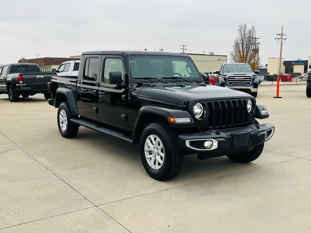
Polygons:
[[52,69],[58,69],[58,67],[67,61],[80,60],[80,58],[68,58],[68,57],[40,57],[33,59],[20,59],[18,63],[35,63],[38,64],[42,71],[48,72]]

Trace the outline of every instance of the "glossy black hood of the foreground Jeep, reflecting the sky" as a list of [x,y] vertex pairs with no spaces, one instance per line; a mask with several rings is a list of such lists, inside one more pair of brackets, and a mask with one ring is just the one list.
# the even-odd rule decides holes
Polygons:
[[175,104],[183,104],[184,100],[188,100],[189,106],[194,102],[204,100],[253,98],[241,91],[214,85],[197,84],[144,86],[139,91],[138,96]]

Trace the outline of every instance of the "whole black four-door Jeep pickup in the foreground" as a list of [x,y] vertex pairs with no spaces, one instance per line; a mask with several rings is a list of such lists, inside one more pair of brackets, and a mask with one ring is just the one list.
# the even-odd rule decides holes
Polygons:
[[226,155],[251,162],[274,133],[267,108],[251,95],[204,84],[186,54],[82,53],[78,77],[53,76],[50,105],[65,138],[79,126],[140,143],[142,164],[157,180],[178,175],[183,156]]

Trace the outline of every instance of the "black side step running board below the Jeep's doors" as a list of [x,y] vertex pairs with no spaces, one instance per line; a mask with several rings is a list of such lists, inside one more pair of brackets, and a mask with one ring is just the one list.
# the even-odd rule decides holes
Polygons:
[[109,129],[109,128],[105,128],[105,127],[101,127],[101,126],[98,126],[94,123],[91,123],[91,122],[88,122],[88,121],[85,121],[85,120],[81,120],[81,119],[70,119],[71,122],[79,125],[79,126],[84,126],[86,128],[89,128],[91,130],[95,130],[95,131],[98,131],[98,132],[101,132],[101,133],[105,133],[105,134],[109,134],[109,135],[112,135],[112,136],[115,136],[117,138],[120,138],[120,139],[123,139],[129,143],[133,143],[134,141],[134,138],[132,136],[128,136],[126,134],[123,134],[123,133],[120,133],[118,131],[115,131],[115,130],[112,130],[112,129]]

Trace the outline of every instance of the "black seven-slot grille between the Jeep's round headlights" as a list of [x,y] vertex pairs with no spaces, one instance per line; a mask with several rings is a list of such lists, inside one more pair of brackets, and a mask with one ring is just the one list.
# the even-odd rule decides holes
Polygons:
[[247,100],[220,100],[207,102],[208,128],[219,129],[248,124]]

